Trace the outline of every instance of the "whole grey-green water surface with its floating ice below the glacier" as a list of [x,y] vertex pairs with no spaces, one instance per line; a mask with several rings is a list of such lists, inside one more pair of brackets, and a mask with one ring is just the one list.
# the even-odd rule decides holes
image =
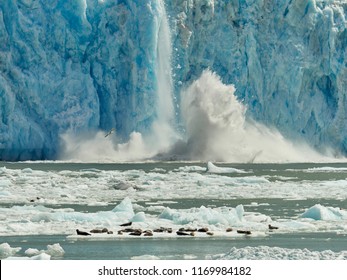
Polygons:
[[347,163],[2,162],[0,258],[347,259],[346,178]]

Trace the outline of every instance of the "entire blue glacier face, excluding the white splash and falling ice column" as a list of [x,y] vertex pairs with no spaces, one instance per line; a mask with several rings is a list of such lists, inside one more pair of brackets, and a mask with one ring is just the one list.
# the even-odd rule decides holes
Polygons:
[[[284,136],[347,154],[347,3],[170,0],[173,102],[205,69]],[[60,135],[158,118],[161,0],[2,0],[0,159],[55,159]]]

